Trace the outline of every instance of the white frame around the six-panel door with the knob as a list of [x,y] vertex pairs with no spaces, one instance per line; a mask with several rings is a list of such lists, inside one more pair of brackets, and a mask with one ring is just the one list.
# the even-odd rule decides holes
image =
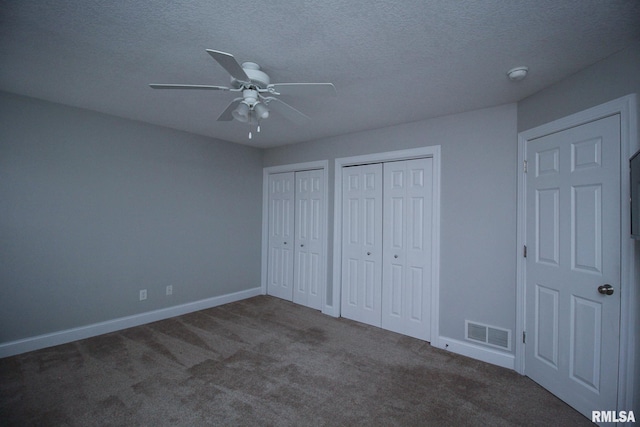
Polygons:
[[[518,197],[517,197],[517,266],[516,266],[516,337],[523,337],[526,331],[526,262],[523,256],[526,241],[526,185],[525,162],[529,141],[560,132],[575,126],[620,114],[620,349],[618,368],[618,408],[593,408],[607,410],[629,410],[633,407],[633,380],[635,367],[635,327],[634,319],[638,313],[636,300],[634,244],[630,238],[630,202],[629,202],[629,158],[637,150],[637,103],[636,95],[631,94],[570,116],[546,123],[518,133]],[[525,373],[525,344],[517,339],[515,345],[515,370]]]

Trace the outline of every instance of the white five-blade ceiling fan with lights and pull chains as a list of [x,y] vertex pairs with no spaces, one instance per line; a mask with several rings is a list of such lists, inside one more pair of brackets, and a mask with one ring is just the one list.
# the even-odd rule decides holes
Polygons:
[[[206,50],[213,59],[231,75],[231,87],[191,84],[156,84],[149,86],[153,89],[195,89],[221,90],[240,92],[241,97],[234,99],[220,114],[218,121],[237,120],[242,123],[257,125],[260,132],[260,121],[269,117],[274,110],[288,120],[303,123],[310,120],[306,114],[296,110],[286,102],[277,98],[278,95],[323,95],[336,94],[331,83],[271,83],[269,76],[255,62],[236,61],[233,55],[217,50]],[[251,132],[249,132],[251,138]]]

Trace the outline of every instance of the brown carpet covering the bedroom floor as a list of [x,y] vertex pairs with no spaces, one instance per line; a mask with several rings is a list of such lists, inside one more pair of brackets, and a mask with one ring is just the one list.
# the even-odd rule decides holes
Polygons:
[[6,426],[591,425],[526,377],[277,298],[0,359]]

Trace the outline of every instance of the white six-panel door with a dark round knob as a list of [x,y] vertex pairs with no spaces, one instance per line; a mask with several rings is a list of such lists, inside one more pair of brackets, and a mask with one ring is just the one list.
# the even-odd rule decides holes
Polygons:
[[525,373],[588,417],[615,410],[620,117],[529,141],[527,162]]

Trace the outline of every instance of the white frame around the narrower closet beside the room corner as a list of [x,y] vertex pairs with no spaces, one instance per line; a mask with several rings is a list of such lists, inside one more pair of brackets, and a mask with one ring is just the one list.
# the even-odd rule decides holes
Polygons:
[[324,215],[324,221],[322,226],[324,227],[324,235],[322,236],[322,271],[324,272],[324,280],[320,284],[322,292],[322,312],[325,312],[327,303],[327,258],[328,258],[328,218],[329,218],[329,161],[319,160],[315,162],[294,163],[289,165],[269,166],[262,169],[262,264],[261,264],[261,277],[260,277],[260,289],[262,295],[267,294],[267,268],[269,264],[269,175],[284,172],[301,172],[306,170],[318,170],[322,169],[323,173],[323,186],[324,186],[324,207],[322,215]]

